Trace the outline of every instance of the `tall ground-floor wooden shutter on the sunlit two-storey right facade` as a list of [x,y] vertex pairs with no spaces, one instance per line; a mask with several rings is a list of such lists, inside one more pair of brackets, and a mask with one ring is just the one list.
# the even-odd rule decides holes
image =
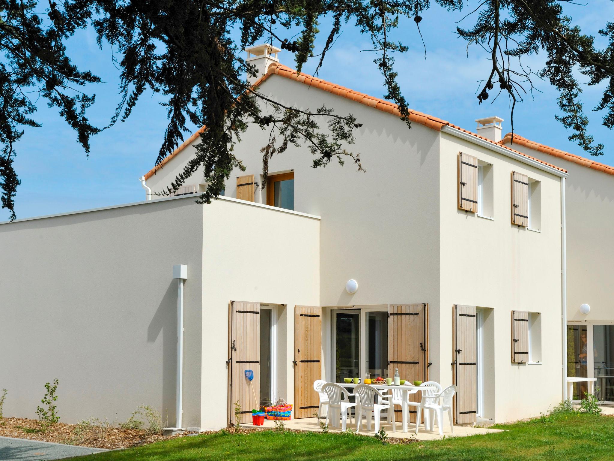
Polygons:
[[457,424],[475,423],[477,402],[477,339],[475,306],[455,304],[453,307],[453,382],[454,417]]

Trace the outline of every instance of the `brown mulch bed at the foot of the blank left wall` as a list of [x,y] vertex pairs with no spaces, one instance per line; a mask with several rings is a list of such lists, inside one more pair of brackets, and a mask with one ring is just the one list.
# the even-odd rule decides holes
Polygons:
[[151,434],[146,430],[105,427],[104,425],[82,426],[58,422],[46,432],[36,419],[2,418],[0,419],[0,436],[20,439],[41,440],[45,442],[64,443],[94,448],[128,448],[147,443],[181,437],[186,433],[165,436]]

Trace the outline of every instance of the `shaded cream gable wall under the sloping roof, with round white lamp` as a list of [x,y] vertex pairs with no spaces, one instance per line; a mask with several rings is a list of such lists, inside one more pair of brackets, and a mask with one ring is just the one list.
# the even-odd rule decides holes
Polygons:
[[[332,160],[328,167],[314,169],[306,146],[290,145],[270,160],[270,174],[294,170],[295,210],[322,216],[320,305],[427,302],[431,318],[437,320],[439,132],[418,123],[408,130],[391,114],[284,77],[270,76],[260,91],[303,109],[316,111],[325,104],[363,124],[356,143],[348,148],[360,152],[364,172],[357,171],[349,158],[343,167]],[[236,197],[236,176],[254,174],[262,183],[260,148],[267,142],[268,131],[258,127],[242,135],[235,154],[246,171],[233,171],[227,197]],[[193,146],[186,148],[147,184],[161,190],[193,152]],[[187,182],[203,179],[197,173]],[[257,189],[256,200],[266,203],[266,191]],[[349,278],[359,282],[354,295],[345,291]],[[430,337],[435,339],[430,354],[436,356],[436,326]],[[436,373],[431,377],[438,379]]]

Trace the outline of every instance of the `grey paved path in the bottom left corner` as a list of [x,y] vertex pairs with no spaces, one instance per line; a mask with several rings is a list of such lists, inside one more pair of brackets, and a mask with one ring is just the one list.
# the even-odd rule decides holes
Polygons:
[[29,439],[0,437],[0,461],[39,461],[69,458],[106,451]]

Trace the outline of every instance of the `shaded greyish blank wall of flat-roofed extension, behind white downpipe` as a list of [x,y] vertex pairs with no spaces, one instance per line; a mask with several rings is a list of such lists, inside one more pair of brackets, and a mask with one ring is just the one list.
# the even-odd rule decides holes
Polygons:
[[5,416],[36,418],[60,380],[61,422],[175,419],[177,281],[185,282],[184,423],[200,426],[203,207],[189,198],[0,224]]

